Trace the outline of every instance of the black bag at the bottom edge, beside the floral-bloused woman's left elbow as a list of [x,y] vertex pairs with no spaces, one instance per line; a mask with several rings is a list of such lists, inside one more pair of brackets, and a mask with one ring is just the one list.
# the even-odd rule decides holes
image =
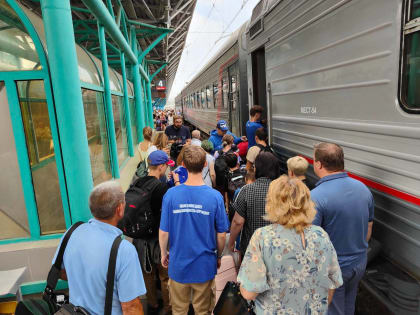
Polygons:
[[254,302],[248,303],[241,295],[239,284],[229,281],[213,310],[214,315],[255,315]]

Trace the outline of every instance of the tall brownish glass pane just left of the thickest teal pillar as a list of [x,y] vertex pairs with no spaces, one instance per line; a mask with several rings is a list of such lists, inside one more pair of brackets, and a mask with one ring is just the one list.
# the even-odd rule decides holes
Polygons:
[[41,234],[65,231],[50,118],[41,80],[17,83]]

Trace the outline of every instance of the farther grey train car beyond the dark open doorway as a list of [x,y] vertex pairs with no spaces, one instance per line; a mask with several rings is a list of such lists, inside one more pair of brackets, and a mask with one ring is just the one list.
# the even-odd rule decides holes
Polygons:
[[245,29],[243,25],[234,32],[176,97],[175,103],[182,104],[185,121],[207,134],[216,128],[219,119],[228,121],[234,134],[245,134],[244,122],[248,120]]

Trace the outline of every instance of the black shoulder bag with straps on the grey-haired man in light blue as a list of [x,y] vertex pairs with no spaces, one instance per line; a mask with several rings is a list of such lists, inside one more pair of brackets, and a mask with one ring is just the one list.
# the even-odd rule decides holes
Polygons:
[[[67,243],[74,230],[77,229],[81,224],[83,224],[83,222],[75,223],[64,236],[54,265],[51,266],[51,269],[48,273],[47,286],[44,290],[42,299],[29,299],[25,301],[20,301],[16,306],[15,315],[90,315],[90,313],[83,307],[74,306],[73,304],[69,303],[67,297],[65,297],[63,302],[57,302],[57,295],[54,292],[55,287],[57,286],[58,279],[60,277],[61,266],[63,264],[63,257]],[[121,236],[117,236],[115,238],[114,242],[112,243],[111,253],[109,256],[105,295],[105,315],[111,315],[112,312],[115,266],[117,263],[118,248],[120,246],[121,241]]]

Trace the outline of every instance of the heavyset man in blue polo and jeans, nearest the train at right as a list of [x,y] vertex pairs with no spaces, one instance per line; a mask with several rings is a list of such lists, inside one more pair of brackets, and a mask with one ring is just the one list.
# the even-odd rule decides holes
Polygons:
[[337,252],[344,281],[335,290],[328,314],[353,315],[372,234],[373,196],[362,182],[344,172],[344,153],[337,144],[320,143],[315,146],[314,172],[321,179],[311,191],[317,210],[313,224],[328,233]]

